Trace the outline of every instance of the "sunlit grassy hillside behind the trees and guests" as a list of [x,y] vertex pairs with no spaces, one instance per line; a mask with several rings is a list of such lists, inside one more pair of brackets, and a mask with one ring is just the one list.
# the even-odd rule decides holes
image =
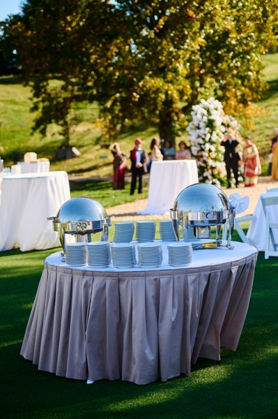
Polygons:
[[[254,112],[246,124],[240,116],[242,135],[252,136],[261,154],[263,174],[268,166],[270,134],[278,123],[278,52],[267,54],[263,58],[265,70],[263,78],[268,82],[268,89],[261,101],[256,103]],[[82,155],[74,159],[56,161],[56,150],[61,145],[61,137],[56,126],[50,126],[45,138],[38,133],[31,135],[34,116],[31,108],[31,90],[23,87],[18,78],[0,78],[0,152],[6,166],[13,163],[13,152],[34,151],[38,157],[51,160],[52,170],[66,170],[69,175],[86,177],[107,177],[112,174],[112,157],[109,152],[109,140],[105,137],[98,122],[98,105],[93,103],[79,104],[74,112],[75,124],[72,125],[70,145],[76,146]],[[144,149],[148,150],[150,140],[157,135],[155,128],[144,126],[139,122],[130,124],[118,133],[116,140],[129,157],[130,149],[137,137],[144,140]],[[183,133],[186,138],[186,133]]]

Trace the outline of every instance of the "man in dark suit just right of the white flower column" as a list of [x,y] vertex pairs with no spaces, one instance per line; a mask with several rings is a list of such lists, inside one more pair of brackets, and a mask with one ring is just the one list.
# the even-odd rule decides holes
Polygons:
[[231,132],[228,132],[225,134],[221,145],[225,148],[224,162],[226,165],[228,188],[231,188],[231,170],[233,170],[233,176],[235,177],[235,187],[238,188],[238,162],[240,161],[240,155],[236,151],[236,147],[239,145],[239,142],[233,138]]

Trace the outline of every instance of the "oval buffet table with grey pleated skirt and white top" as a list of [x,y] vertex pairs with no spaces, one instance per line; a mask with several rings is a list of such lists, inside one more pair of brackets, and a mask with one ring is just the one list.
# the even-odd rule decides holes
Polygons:
[[252,291],[257,250],[194,251],[188,267],[72,268],[45,259],[21,355],[57,376],[147,384],[186,374],[199,357],[235,351]]

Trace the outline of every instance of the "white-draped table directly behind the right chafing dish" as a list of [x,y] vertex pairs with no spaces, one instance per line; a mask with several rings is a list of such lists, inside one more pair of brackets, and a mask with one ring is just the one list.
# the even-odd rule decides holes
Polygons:
[[167,214],[178,194],[199,182],[195,160],[153,161],[150,166],[148,205],[137,214]]

